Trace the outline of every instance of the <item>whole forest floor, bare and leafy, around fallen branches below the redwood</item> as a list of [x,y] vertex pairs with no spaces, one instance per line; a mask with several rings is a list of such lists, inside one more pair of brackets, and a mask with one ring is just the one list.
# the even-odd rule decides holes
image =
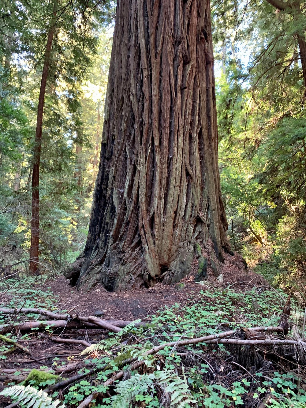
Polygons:
[[[299,348],[199,343],[166,347],[151,357],[144,357],[147,350],[165,342],[232,329],[238,329],[235,337],[239,339],[242,336],[239,328],[277,326],[286,295],[270,288],[260,276],[233,273],[231,282],[210,279],[195,284],[185,279],[177,286],[158,284],[151,289],[120,293],[109,293],[97,286],[94,292],[78,294],[64,278],[50,282],[40,277],[39,284],[35,279],[7,279],[0,283],[1,306],[17,308],[14,315],[0,315],[0,324],[44,319],[18,313],[21,307],[79,315],[98,312],[103,319],[142,319],[150,324],[140,328],[128,326],[116,335],[91,328],[53,330],[49,327],[28,333],[12,330],[7,337],[27,347],[31,356],[1,343],[3,386],[20,383],[36,368],[60,375],[62,379],[83,375],[53,392],[51,388],[62,379],[28,381],[38,388],[49,389],[49,395],[71,407],[78,407],[92,392],[97,393],[92,405],[97,407],[177,407],[175,397],[186,407],[302,408],[305,405],[304,351]],[[294,302],[292,307],[287,337],[301,339],[305,337],[304,313],[299,312]],[[56,337],[82,340],[95,346],[80,355],[86,346],[58,344],[52,341]],[[284,336],[271,333],[269,338]],[[143,361],[133,369],[127,360],[135,356]],[[122,369],[124,374],[118,384],[104,386]],[[8,403],[9,399],[2,399],[1,406]]]

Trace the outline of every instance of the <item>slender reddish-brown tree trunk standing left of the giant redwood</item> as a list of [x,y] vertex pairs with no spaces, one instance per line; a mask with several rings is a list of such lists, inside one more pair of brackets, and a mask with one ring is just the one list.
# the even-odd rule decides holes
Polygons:
[[[56,4],[56,2],[55,2]],[[30,273],[33,274],[38,268],[39,253],[39,170],[40,170],[40,152],[42,144],[42,118],[44,113],[44,95],[48,77],[50,54],[54,34],[56,11],[53,13],[53,19],[48,33],[46,51],[44,55],[44,67],[42,69],[42,79],[40,82],[40,93],[38,99],[35,145],[33,154],[32,170],[32,217],[31,217],[31,246],[30,246]]]

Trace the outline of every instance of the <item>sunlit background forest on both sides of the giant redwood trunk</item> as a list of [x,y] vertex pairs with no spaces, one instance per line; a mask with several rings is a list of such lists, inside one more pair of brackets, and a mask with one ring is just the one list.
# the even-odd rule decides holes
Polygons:
[[[222,191],[232,248],[272,284],[304,291],[305,17],[303,8],[287,13],[271,3],[212,4]],[[115,13],[112,2],[65,4],[44,101],[44,272],[62,270],[84,248]],[[28,268],[36,115],[53,6],[4,0],[0,8],[0,268],[9,273]]]

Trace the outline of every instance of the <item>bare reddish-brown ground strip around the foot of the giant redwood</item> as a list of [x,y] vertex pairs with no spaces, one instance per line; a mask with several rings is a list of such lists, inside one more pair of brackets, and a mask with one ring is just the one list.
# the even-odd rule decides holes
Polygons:
[[101,310],[103,319],[110,320],[148,320],[157,310],[164,306],[172,306],[175,303],[186,304],[191,297],[199,295],[203,287],[231,285],[236,290],[245,290],[267,284],[263,277],[253,272],[239,275],[228,274],[226,281],[219,284],[215,278],[208,278],[202,282],[204,285],[192,282],[190,277],[182,279],[178,285],[156,284],[153,288],[142,290],[126,290],[108,292],[102,285],[98,284],[92,291],[86,292],[76,290],[69,285],[67,279],[59,276],[51,282],[38,286],[50,290],[58,296],[58,308],[60,310],[73,311],[79,315],[93,315],[95,311]]

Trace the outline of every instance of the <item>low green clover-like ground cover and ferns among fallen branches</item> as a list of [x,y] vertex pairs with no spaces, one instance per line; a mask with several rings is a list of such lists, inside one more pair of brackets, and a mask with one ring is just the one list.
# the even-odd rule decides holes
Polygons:
[[[25,281],[21,281],[20,286],[25,285],[22,282]],[[31,293],[20,292],[19,296],[18,305],[22,306],[22,296],[27,299]],[[28,306],[42,306],[51,299],[55,299],[52,293],[41,291]],[[216,348],[205,344],[164,347],[155,355],[146,355],[147,350],[165,342],[239,329],[240,326],[275,326],[283,308],[279,299],[275,290],[264,288],[244,292],[231,288],[201,290],[198,296],[191,295],[184,304],[159,310],[152,316],[150,325],[135,327],[139,321],[133,322],[81,353],[91,355],[79,373],[88,372],[90,364],[90,368],[95,368],[94,379],[87,377],[70,386],[63,395],[64,406],[77,407],[87,396],[96,393],[93,406],[97,408],[140,405],[148,408],[224,408],[259,406],[264,400],[268,401],[267,406],[277,408],[302,407],[306,398],[301,387],[304,380],[293,372],[272,372],[270,368],[267,373],[266,367],[256,372],[251,367],[251,375],[239,370],[235,376],[232,366],[227,368],[228,375],[220,371],[220,375],[213,376],[218,367],[226,366],[226,361],[233,357],[222,344]],[[304,316],[304,311],[298,307],[296,313]],[[303,324],[303,319],[296,323]],[[241,351],[248,353],[247,348]],[[55,360],[58,362],[58,358]],[[140,368],[132,370],[133,362],[141,362]],[[105,386],[104,382],[119,370],[124,371],[123,379]],[[42,388],[54,383],[53,375],[50,378],[47,378],[49,375],[41,378],[41,375],[44,373],[38,371],[39,379],[32,380],[36,386]]]

